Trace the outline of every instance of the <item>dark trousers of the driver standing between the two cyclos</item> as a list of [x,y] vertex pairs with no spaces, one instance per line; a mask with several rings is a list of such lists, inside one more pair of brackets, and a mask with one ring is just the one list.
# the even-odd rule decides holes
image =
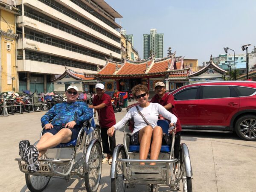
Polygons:
[[[116,147],[116,131],[114,131],[114,134],[112,137],[108,136],[107,131],[108,131],[108,128],[100,128],[103,153],[113,155],[114,148]],[[109,139],[109,144],[108,144],[108,139]]]

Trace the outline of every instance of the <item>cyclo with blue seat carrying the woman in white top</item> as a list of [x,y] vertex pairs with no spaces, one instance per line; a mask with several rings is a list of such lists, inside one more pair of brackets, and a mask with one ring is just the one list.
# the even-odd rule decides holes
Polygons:
[[[163,129],[163,133],[168,133],[167,120],[158,120],[157,125]],[[158,160],[140,160],[140,145],[130,145],[130,137],[131,130],[127,123],[124,127],[124,144],[117,145],[113,152],[110,175],[112,192],[125,192],[126,184],[133,187],[136,184],[144,184],[148,186],[150,192],[158,192],[160,185],[167,185],[168,191],[175,191],[180,189],[180,180],[183,191],[192,192],[189,149],[185,143],[180,144],[179,158],[174,158],[174,133],[171,147],[162,145]],[[145,165],[140,165],[141,162]],[[147,163],[156,163],[156,165],[147,165]]]

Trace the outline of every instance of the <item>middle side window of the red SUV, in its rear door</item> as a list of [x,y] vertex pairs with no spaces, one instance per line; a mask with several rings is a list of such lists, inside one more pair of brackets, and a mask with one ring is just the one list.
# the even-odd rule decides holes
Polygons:
[[230,97],[229,86],[203,86],[202,99]]

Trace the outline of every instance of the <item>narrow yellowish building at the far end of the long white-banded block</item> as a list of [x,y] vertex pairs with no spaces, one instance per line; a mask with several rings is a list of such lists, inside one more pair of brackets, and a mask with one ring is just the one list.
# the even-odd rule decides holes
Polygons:
[[129,59],[131,61],[136,61],[139,58],[138,51],[132,46],[131,42],[128,41],[125,35],[121,34],[121,48],[122,48],[122,58]]

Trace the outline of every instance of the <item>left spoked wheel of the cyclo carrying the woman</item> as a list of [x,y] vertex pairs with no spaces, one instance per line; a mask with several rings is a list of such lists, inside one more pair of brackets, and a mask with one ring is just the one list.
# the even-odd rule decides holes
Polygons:
[[[117,159],[125,159],[125,149],[122,147],[119,149],[118,154],[116,155]],[[112,170],[111,165],[111,170]],[[126,183],[124,182],[124,174],[122,172],[122,163],[116,162],[115,167],[116,177],[111,179],[111,192],[125,192]]]

